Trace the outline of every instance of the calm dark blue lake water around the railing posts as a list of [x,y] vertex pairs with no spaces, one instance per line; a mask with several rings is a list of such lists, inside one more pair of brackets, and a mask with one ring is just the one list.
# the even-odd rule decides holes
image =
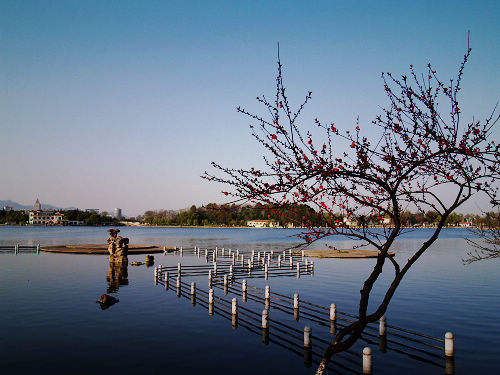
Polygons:
[[[104,243],[103,227],[17,227],[0,226],[0,245],[59,245]],[[120,228],[120,235],[131,244],[155,244],[214,249],[216,246],[240,251],[281,252],[296,244],[295,230],[287,229],[205,229],[205,228]],[[395,246],[396,260],[404,261],[425,241],[429,229],[404,235]],[[493,373],[500,349],[500,272],[499,260],[464,265],[470,250],[465,242],[468,232],[446,229],[440,239],[406,275],[386,313],[389,325],[444,338],[447,331],[455,336],[455,373]],[[348,240],[330,241],[339,248]],[[321,248],[323,243],[315,248]],[[205,265],[204,257],[189,254],[155,254],[155,266]],[[129,257],[144,261],[144,255]],[[300,260],[300,259],[299,259]],[[301,277],[249,278],[257,288],[269,285],[271,291],[286,296],[299,293],[300,299],[319,306],[335,303],[337,309],[356,314],[359,290],[373,268],[374,259],[312,259],[314,275]],[[393,269],[386,264],[371,299],[373,305],[382,296]],[[244,323],[232,327],[217,307],[213,315],[203,303],[192,305],[189,297],[178,297],[171,288],[154,284],[153,267],[126,269],[121,285],[110,285],[106,256],[49,253],[0,252],[0,363],[4,373],[18,374],[313,374],[314,363],[305,365],[300,345],[279,340],[286,336],[273,326],[269,342],[261,333]],[[122,275],[123,276],[123,275]],[[183,278],[208,291],[206,277]],[[241,280],[240,280],[241,281]],[[214,288],[218,297],[224,296]],[[102,310],[96,303],[110,291],[120,302]],[[201,293],[200,293],[201,295]],[[238,297],[238,296],[237,296]],[[258,313],[259,301],[238,303]],[[271,306],[270,317],[301,332],[312,327],[313,345],[332,338],[329,328],[301,315],[299,321]],[[246,319],[246,318],[245,318]],[[258,323],[260,324],[260,323]],[[278,323],[276,323],[278,324]],[[283,326],[283,327],[284,327]],[[276,329],[275,329],[276,327]],[[363,335],[344,358],[332,363],[330,373],[361,372],[361,353],[372,348],[373,369],[378,374],[444,374],[444,358],[429,349],[420,355],[406,342],[405,347],[394,329],[388,328],[385,352],[378,338]],[[376,332],[375,332],[376,333]],[[393,334],[395,333],[395,334]],[[400,332],[401,333],[401,332]],[[293,335],[292,335],[293,336]],[[300,336],[295,333],[295,336]],[[286,336],[288,337],[288,336]],[[290,336],[291,337],[291,336]],[[298,337],[297,342],[300,343]],[[313,346],[313,350],[322,351]],[[425,357],[425,360],[423,360]]]

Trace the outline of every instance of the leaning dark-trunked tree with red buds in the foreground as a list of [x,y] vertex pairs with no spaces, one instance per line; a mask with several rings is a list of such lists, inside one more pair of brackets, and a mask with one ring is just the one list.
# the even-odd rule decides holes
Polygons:
[[[379,134],[373,140],[363,135],[359,121],[341,130],[316,119],[315,126],[323,132],[320,138],[301,130],[298,118],[311,92],[297,109],[291,108],[278,56],[275,96],[257,97],[267,116],[237,109],[253,122],[252,135],[266,151],[266,168],[235,169],[212,163],[221,175],[205,172],[203,176],[228,186],[223,193],[235,202],[258,201],[272,209],[307,204],[330,218],[327,227],[318,227],[303,217],[306,229],[300,237],[305,245],[342,235],[359,240],[356,247],[379,251],[360,291],[359,318],[337,333],[318,374],[334,353],[349,348],[368,323],[382,317],[405,274],[436,241],[455,209],[478,192],[497,202],[494,182],[500,174],[500,147],[490,139],[499,119],[496,107],[482,122],[461,121],[460,84],[469,56],[470,49],[456,79],[447,83],[431,64],[425,75],[417,75],[413,65],[408,76],[382,74],[388,105],[372,121]],[[405,230],[402,220],[408,208],[436,212],[436,223],[421,247],[400,264],[389,250]],[[343,220],[380,222],[386,217],[391,225],[382,230],[370,225],[355,228]],[[394,277],[380,304],[368,311],[370,292],[386,263],[392,265]]]

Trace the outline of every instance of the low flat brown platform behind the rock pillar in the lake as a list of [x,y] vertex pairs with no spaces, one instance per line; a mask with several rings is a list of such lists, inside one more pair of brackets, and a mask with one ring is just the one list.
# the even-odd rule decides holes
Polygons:
[[[57,245],[42,246],[40,251],[47,253],[65,253],[65,254],[95,254],[109,255],[108,245],[106,244],[78,244],[78,245]],[[174,246],[156,246],[156,245],[129,245],[128,255],[135,254],[154,254],[175,251]]]

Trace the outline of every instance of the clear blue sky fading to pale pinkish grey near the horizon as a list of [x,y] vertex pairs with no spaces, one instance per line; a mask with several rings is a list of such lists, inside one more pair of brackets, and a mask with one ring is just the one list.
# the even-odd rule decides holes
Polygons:
[[452,78],[470,30],[462,118],[485,118],[500,100],[499,14],[496,0],[0,0],[0,199],[127,216],[225,202],[200,175],[262,163],[236,107],[264,113],[278,42],[292,103],[313,93],[303,126],[368,125],[381,72],[431,62]]

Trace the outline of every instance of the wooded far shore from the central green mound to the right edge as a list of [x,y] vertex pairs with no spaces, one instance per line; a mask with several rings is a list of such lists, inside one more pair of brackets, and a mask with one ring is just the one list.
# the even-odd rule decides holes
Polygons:
[[[406,227],[432,226],[439,222],[440,216],[436,211],[411,212],[404,211],[401,215],[402,224]],[[192,205],[189,209],[181,211],[156,210],[146,211],[142,218],[149,225],[172,225],[172,226],[247,226],[251,220],[270,220],[281,226],[329,226],[332,221],[343,223],[344,215],[341,213],[332,216],[316,212],[305,204],[288,205],[274,208],[256,203],[254,205],[216,204],[196,207]],[[380,216],[370,217],[357,215],[352,219],[360,226],[377,226],[383,223],[384,218]],[[495,212],[486,212],[483,215],[452,213],[446,220],[447,226],[459,226],[459,223],[470,222],[477,227],[496,227],[500,218]]]

